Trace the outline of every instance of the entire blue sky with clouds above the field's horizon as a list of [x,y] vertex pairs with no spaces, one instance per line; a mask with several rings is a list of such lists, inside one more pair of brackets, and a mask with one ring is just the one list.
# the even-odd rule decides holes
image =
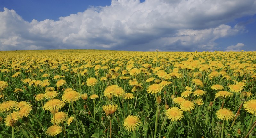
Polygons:
[[256,51],[255,0],[1,0],[0,50]]

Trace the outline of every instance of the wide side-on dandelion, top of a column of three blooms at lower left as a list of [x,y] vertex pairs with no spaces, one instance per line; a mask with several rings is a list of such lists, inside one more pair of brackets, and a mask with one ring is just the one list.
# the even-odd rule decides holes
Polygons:
[[60,109],[60,108],[64,107],[64,105],[65,105],[65,103],[63,103],[61,100],[52,99],[45,103],[45,105],[43,106],[43,109],[51,111],[51,110],[55,110],[55,109]]

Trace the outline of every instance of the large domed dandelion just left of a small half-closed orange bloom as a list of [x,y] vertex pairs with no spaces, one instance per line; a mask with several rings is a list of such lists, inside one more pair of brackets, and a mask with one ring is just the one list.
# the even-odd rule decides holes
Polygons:
[[68,91],[62,95],[62,101],[64,103],[70,103],[77,101],[80,98],[80,93],[76,91]]

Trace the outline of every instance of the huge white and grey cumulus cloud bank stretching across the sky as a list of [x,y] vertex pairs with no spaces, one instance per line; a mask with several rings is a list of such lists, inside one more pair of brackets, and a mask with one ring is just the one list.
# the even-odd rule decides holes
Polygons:
[[4,8],[0,50],[213,50],[216,39],[246,31],[226,24],[254,15],[255,8],[254,0],[112,0],[110,6],[40,22]]

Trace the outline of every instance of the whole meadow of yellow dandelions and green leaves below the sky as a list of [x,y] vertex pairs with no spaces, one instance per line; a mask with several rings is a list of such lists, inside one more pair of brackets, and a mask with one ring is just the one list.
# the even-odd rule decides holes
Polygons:
[[0,137],[256,137],[256,52],[0,54]]

